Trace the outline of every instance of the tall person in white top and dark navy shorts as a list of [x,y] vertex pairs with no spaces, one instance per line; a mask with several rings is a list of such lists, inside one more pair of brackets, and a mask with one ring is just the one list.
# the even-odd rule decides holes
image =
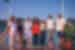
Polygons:
[[64,36],[64,26],[65,26],[65,19],[61,14],[59,14],[59,16],[56,19],[56,38],[58,39],[58,41],[56,42],[57,48],[59,47],[60,41],[61,39],[63,39]]

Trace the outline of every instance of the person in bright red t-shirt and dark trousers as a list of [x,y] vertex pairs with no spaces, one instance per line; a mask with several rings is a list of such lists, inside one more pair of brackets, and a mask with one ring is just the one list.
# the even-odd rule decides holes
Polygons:
[[40,42],[40,20],[36,17],[34,17],[32,22],[32,36],[32,44],[37,47]]

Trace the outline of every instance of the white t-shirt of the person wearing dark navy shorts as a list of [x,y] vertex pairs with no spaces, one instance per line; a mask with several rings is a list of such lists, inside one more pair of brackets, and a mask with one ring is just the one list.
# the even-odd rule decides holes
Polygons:
[[64,25],[65,25],[65,19],[56,19],[56,30],[57,31],[62,31],[64,29]]

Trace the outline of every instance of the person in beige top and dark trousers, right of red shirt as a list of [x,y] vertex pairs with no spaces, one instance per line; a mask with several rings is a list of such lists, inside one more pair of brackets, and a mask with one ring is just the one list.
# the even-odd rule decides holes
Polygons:
[[40,44],[45,47],[46,44],[46,21],[42,20],[40,22]]

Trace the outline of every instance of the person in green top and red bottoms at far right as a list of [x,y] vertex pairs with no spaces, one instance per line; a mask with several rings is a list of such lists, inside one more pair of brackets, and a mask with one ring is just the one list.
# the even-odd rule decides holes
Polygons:
[[64,32],[65,32],[65,36],[64,36],[64,39],[65,39],[65,41],[64,41],[64,44],[65,44],[65,49],[71,49],[71,48],[73,48],[74,46],[72,46],[72,44],[74,45],[74,37],[75,37],[75,35],[74,35],[74,27],[73,27],[73,25],[70,25],[70,24],[66,24],[65,25],[65,29],[64,29]]

